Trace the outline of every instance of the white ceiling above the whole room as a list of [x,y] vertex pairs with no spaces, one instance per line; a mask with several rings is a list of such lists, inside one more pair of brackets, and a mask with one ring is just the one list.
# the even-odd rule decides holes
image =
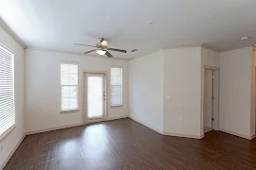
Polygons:
[[27,46],[82,53],[91,48],[74,42],[104,37],[128,51],[113,56],[127,59],[162,47],[256,42],[255,0],[0,0],[0,17]]

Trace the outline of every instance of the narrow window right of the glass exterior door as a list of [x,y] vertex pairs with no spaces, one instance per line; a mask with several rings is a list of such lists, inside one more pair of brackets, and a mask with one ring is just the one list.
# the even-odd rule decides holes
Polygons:
[[111,68],[111,106],[122,105],[122,68]]

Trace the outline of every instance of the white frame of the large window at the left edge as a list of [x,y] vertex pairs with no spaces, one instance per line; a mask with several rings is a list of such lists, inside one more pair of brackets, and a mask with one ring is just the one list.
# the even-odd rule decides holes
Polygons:
[[0,142],[4,140],[9,133],[16,127],[16,105],[15,105],[15,58],[14,58],[14,52],[10,50],[7,46],[5,46],[3,43],[0,42],[0,48],[3,48],[5,51],[11,54],[12,56],[12,97],[13,97],[13,114],[14,114],[14,124],[11,125],[6,131],[4,131],[2,134],[0,134]]

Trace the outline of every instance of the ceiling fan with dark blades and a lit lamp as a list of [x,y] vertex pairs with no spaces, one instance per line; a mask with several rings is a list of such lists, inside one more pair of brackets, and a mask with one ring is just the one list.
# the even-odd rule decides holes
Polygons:
[[94,48],[95,48],[95,49],[93,49],[93,50],[86,51],[86,52],[84,52],[83,54],[88,54],[88,53],[91,53],[91,52],[96,51],[99,55],[106,55],[108,58],[112,58],[112,57],[113,57],[113,56],[108,52],[108,50],[110,50],[110,51],[117,51],[117,52],[120,52],[120,53],[126,53],[126,52],[127,52],[126,50],[122,50],[122,49],[109,48],[109,47],[107,47],[108,42],[105,41],[104,38],[101,38],[100,40],[101,40],[101,42],[96,43],[95,46],[93,46],[93,45],[87,45],[87,44],[82,44],[82,43],[74,43],[74,44],[76,44],[76,45],[82,45],[82,46],[90,46],[90,47],[94,47]]

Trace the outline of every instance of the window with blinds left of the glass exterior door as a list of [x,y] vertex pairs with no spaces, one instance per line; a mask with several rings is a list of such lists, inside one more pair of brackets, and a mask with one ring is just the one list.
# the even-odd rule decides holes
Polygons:
[[78,64],[61,63],[62,111],[78,110]]

